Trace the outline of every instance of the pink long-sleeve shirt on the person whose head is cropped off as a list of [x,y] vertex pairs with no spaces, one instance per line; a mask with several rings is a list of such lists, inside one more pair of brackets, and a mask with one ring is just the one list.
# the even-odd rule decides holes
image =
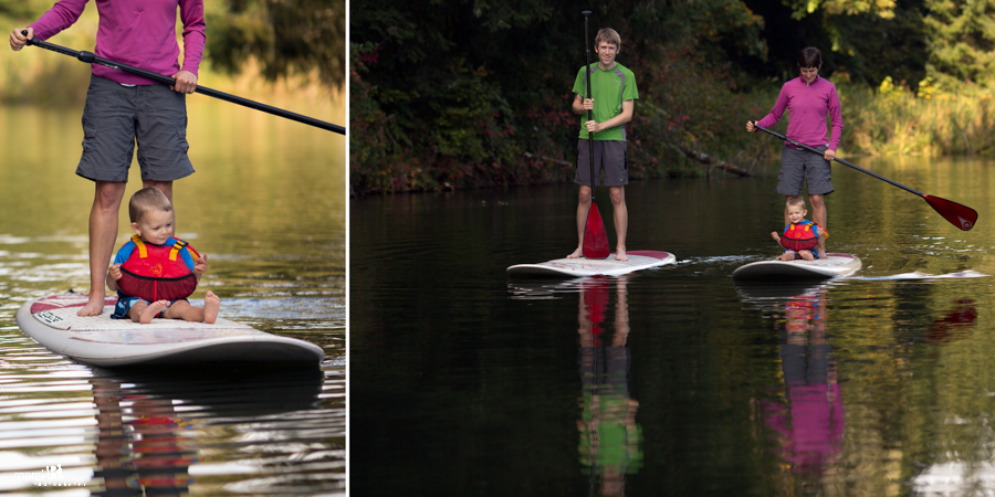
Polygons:
[[[48,40],[73,25],[90,0],[60,0],[31,24]],[[181,68],[197,74],[203,57],[203,0],[95,0],[100,13],[94,54],[122,64],[172,76]],[[184,65],[176,42],[176,8],[184,23]],[[93,64],[93,74],[117,83],[151,85],[154,81]]]

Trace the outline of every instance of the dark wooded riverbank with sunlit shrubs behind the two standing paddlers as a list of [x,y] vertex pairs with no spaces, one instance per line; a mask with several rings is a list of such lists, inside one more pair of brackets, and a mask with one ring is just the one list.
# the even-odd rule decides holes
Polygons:
[[[975,2],[976,3],[976,2]],[[795,53],[821,49],[839,88],[841,155],[988,154],[995,8],[964,0],[652,0],[593,9],[639,85],[630,178],[748,173],[777,142],[744,131]],[[350,12],[354,193],[569,181],[585,63],[566,0],[370,0]],[[594,61],[594,54],[591,53]],[[784,129],[786,117],[778,125]]]

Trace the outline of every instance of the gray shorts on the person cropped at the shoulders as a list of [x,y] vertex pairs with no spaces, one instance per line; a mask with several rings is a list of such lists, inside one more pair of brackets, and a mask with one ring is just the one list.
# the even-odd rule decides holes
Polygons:
[[172,181],[192,175],[187,157],[186,95],[166,85],[123,86],[92,76],[76,175],[94,181],[127,181],[136,140],[143,181]]

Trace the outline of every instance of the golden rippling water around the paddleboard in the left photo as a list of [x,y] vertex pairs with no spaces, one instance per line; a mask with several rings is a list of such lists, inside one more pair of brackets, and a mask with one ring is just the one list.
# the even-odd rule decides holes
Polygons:
[[137,373],[23,335],[25,300],[88,287],[93,183],[73,173],[82,105],[0,109],[0,491],[345,494],[345,139],[206,97],[188,106],[197,173],[176,183],[177,233],[210,262],[192,302],[211,289],[222,317],[327,357],[303,372]]

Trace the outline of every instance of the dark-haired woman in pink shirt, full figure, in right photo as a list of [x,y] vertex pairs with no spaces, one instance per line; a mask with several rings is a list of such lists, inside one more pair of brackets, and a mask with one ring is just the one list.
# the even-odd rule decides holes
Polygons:
[[[798,53],[800,75],[784,84],[774,108],[760,121],[747,121],[746,130],[756,133],[756,126],[769,128],[781,120],[784,112],[788,113],[786,136],[798,142],[808,145],[823,152],[819,157],[785,141],[781,151],[781,175],[777,180],[777,192],[785,197],[802,194],[802,186],[808,182],[808,201],[811,205],[813,221],[828,232],[826,203],[824,195],[832,193],[830,163],[836,157],[839,138],[842,134],[842,114],[839,107],[839,95],[836,86],[819,76],[823,66],[823,54],[818,49],[807,47]],[[832,121],[832,133],[827,134],[826,117]],[[790,224],[787,210],[784,212],[784,225]],[[825,242],[818,246],[819,258],[826,256]]]

